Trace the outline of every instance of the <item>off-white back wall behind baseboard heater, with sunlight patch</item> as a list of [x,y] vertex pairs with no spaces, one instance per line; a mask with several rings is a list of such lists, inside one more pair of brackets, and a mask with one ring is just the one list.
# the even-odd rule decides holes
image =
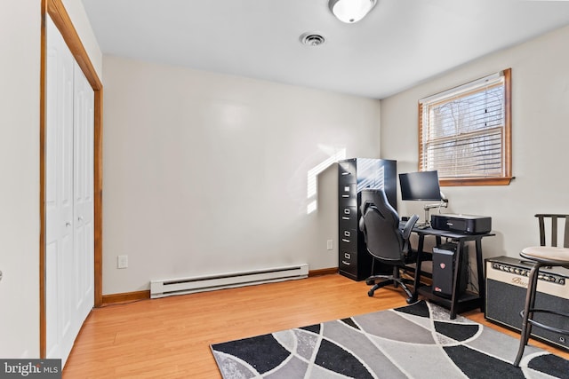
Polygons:
[[378,100],[110,56],[103,66],[103,294],[337,266],[336,168],[319,176],[311,214],[307,175],[342,149],[378,156]]

